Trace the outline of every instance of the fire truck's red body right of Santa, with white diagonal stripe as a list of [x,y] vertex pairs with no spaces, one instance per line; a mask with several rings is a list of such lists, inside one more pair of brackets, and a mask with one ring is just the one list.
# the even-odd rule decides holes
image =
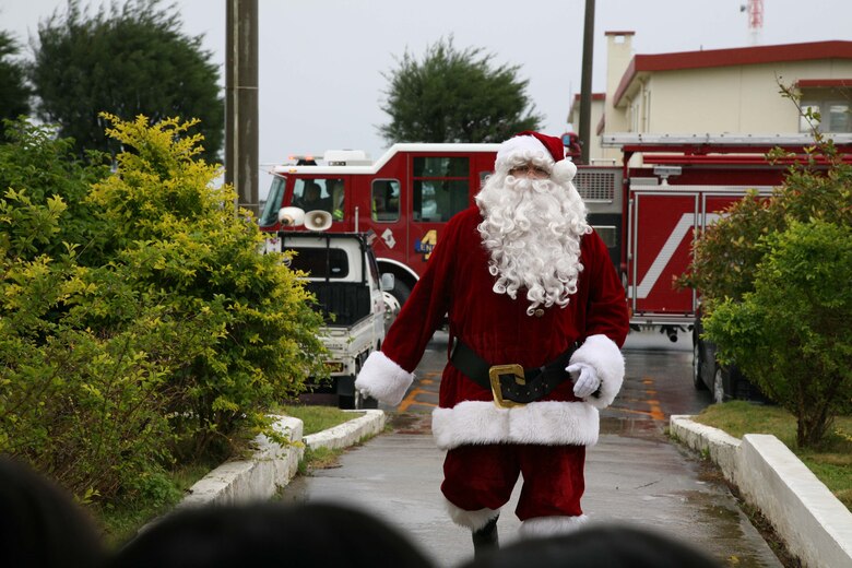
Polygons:
[[[852,137],[832,135],[837,147],[850,156]],[[693,381],[709,388],[713,400],[757,398],[761,394],[738,372],[715,360],[715,347],[701,336],[695,291],[677,289],[673,281],[689,264],[698,230],[712,224],[720,212],[748,190],[768,196],[783,181],[793,162],[806,162],[813,138],[793,135],[653,135],[612,134],[604,146],[623,153],[624,188],[618,265],[627,288],[631,323],[660,326],[672,341],[677,330],[693,329]],[[789,158],[769,164],[766,153],[781,147]],[[630,166],[641,153],[641,166]]]

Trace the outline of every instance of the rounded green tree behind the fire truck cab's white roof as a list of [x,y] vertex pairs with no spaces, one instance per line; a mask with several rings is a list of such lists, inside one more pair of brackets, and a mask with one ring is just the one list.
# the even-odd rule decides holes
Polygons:
[[379,127],[394,142],[501,142],[543,120],[526,96],[518,66],[493,68],[481,48],[457,50],[452,37],[439,40],[417,61],[407,50],[389,81]]

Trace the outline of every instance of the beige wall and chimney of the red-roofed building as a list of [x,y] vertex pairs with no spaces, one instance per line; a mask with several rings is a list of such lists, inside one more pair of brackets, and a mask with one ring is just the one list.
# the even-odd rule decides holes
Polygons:
[[[779,81],[793,86],[801,80],[852,78],[852,60],[842,57],[660,71],[642,70],[648,68],[646,59],[646,63],[637,66],[639,71],[616,105],[616,93],[635,61],[634,33],[606,32],[605,35],[606,95],[603,105],[595,100],[592,108],[590,156],[593,163],[620,163],[618,149],[601,146],[602,133],[797,133],[798,109],[781,95]],[[599,108],[605,114],[600,133]],[[579,125],[579,104],[573,105],[571,113],[577,118],[571,116],[569,121]]]

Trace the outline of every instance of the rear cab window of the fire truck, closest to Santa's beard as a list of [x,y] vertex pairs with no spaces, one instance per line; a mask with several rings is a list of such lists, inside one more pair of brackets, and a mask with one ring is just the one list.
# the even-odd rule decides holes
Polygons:
[[468,208],[468,157],[415,157],[412,185],[415,221],[447,222]]

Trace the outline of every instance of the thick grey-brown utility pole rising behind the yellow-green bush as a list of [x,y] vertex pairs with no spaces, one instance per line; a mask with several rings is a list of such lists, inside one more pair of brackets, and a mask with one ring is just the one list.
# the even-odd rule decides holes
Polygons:
[[227,2],[225,182],[258,216],[258,0]]

